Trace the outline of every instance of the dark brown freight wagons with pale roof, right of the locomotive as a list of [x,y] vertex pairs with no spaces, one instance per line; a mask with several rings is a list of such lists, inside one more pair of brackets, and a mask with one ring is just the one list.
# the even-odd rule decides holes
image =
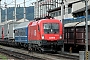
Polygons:
[[[88,21],[88,46],[90,50],[90,21]],[[85,22],[68,23],[64,25],[65,49],[85,50]]]

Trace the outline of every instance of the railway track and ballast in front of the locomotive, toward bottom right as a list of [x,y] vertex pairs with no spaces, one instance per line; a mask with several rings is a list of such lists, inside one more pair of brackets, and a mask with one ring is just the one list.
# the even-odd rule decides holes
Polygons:
[[49,59],[49,60],[79,60],[79,56],[76,55],[71,55],[71,54],[67,54],[67,53],[44,53],[44,54],[40,54],[38,52],[33,52],[33,54],[37,55],[38,57],[43,57],[45,59]]

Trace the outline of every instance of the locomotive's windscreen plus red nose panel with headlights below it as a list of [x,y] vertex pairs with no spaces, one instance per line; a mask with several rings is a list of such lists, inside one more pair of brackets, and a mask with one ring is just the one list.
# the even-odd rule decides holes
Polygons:
[[[59,31],[59,23],[44,23],[43,24],[43,33],[46,40],[55,41],[57,39],[62,39]],[[42,36],[42,39],[43,37]]]

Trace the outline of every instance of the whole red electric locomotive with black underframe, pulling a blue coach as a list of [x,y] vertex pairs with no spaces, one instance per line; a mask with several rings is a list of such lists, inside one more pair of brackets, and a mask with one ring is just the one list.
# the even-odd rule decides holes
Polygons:
[[58,51],[63,46],[62,23],[53,18],[40,19],[28,25],[29,50]]

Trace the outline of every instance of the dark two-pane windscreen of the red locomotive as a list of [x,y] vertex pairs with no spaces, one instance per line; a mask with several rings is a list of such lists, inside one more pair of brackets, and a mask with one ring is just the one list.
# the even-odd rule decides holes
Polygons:
[[59,24],[58,23],[44,23],[44,33],[58,33]]

